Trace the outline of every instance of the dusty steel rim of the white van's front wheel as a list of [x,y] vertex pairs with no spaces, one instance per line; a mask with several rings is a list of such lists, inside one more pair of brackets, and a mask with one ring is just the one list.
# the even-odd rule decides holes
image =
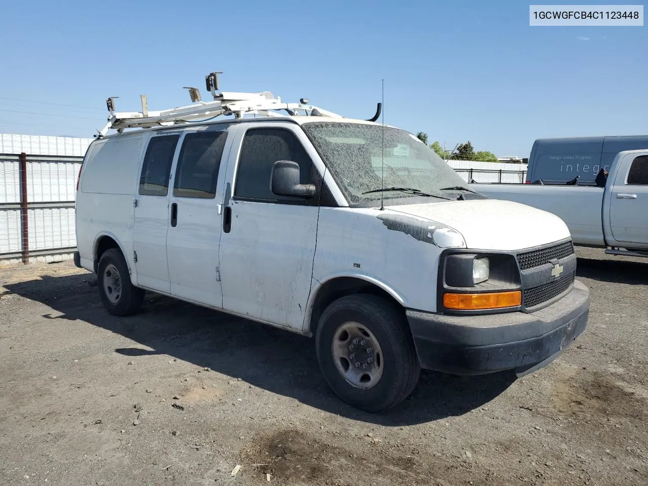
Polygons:
[[356,388],[373,388],[380,381],[384,360],[380,343],[366,326],[349,321],[336,329],[331,343],[338,373]]

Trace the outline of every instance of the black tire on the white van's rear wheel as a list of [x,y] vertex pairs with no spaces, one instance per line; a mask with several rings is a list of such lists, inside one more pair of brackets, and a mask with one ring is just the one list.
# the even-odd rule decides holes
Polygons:
[[[118,292],[111,290],[111,282],[108,280],[110,276],[106,272],[109,268],[116,269],[119,275],[121,286]],[[108,286],[108,289],[106,286]],[[135,314],[144,303],[145,292],[131,283],[126,260],[124,260],[124,255],[117,248],[107,249],[101,255],[97,266],[97,288],[104,307],[113,316]]]

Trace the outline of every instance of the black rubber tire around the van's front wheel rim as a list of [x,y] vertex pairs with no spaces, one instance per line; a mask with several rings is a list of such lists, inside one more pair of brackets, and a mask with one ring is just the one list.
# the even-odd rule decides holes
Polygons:
[[[335,363],[332,347],[336,331],[348,322],[368,329],[382,351],[382,375],[372,388],[351,384]],[[354,407],[369,412],[387,410],[406,399],[419,380],[421,365],[402,310],[376,295],[348,295],[331,303],[319,319],[315,339],[319,367],[330,388]]]

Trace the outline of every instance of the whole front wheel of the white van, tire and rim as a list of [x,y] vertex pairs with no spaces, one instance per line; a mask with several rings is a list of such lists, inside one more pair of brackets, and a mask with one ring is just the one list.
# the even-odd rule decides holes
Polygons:
[[365,411],[387,410],[410,395],[421,367],[399,309],[376,295],[341,297],[316,334],[319,367],[330,388]]

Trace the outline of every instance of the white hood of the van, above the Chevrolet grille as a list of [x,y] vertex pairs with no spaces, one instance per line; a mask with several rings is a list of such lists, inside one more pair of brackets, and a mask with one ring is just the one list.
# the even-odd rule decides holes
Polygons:
[[394,218],[400,213],[451,227],[473,249],[511,251],[570,237],[567,225],[555,214],[511,201],[453,201],[386,209],[396,213]]

